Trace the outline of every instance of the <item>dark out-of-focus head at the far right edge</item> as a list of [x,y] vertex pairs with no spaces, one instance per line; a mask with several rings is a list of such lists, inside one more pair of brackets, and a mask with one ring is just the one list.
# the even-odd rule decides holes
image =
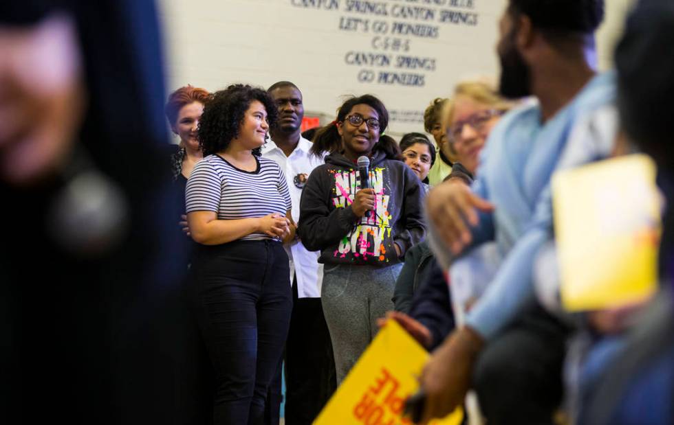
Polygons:
[[670,281],[674,276],[673,45],[674,3],[645,0],[629,16],[615,54],[622,128],[657,163],[658,185],[666,198],[660,275]]

